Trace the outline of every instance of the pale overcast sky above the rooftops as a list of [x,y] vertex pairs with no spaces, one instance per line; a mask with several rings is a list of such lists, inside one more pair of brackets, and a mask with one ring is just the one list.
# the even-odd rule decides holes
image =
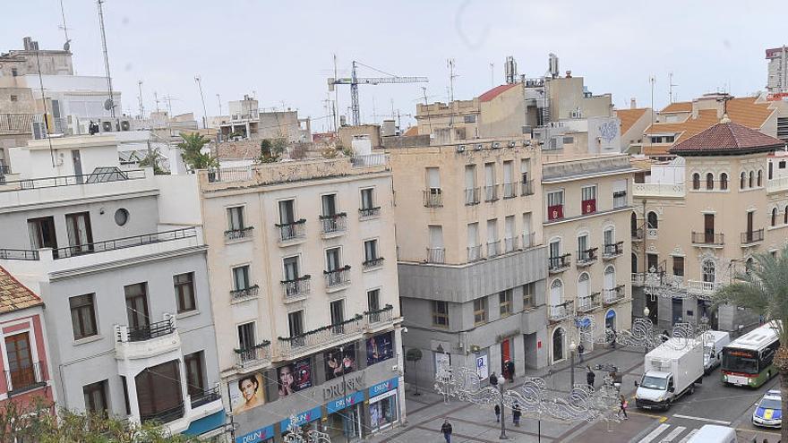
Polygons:
[[[104,75],[95,0],[62,0],[73,63],[78,74]],[[0,52],[21,49],[31,36],[41,49],[60,48],[61,0],[0,3]],[[612,93],[613,104],[654,107],[726,90],[736,96],[765,89],[768,47],[788,44],[773,12],[781,1],[441,1],[345,0],[106,0],[107,49],[113,86],[123,92],[123,111],[138,114],[138,81],[146,112],[154,92],[172,97],[173,114],[203,114],[200,75],[208,115],[227,101],[255,96],[262,108],[297,109],[327,129],[327,79],[333,55],[339,76],[353,60],[381,72],[424,76],[428,83],[360,86],[364,122],[414,120],[415,105],[446,101],[455,64],[454,97],[480,95],[504,82],[503,64],[514,56],[518,73],[539,77],[550,53],[561,73],[585,78],[595,94]],[[10,19],[10,20],[9,20]],[[492,68],[491,68],[491,64]],[[380,72],[360,68],[360,77]],[[338,109],[348,114],[348,86],[338,86]],[[333,94],[331,94],[333,99]],[[159,108],[166,109],[162,100]],[[349,119],[348,119],[349,120]]]

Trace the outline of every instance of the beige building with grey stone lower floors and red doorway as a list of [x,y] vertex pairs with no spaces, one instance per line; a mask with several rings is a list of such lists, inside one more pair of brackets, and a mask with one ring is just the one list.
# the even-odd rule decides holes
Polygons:
[[[407,380],[547,364],[540,151],[522,139],[388,150]],[[544,344],[544,345],[543,345]],[[417,376],[416,376],[417,373]]]

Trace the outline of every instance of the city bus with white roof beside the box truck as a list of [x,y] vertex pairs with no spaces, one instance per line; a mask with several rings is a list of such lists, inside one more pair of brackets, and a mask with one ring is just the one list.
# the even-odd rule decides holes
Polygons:
[[780,347],[775,321],[753,329],[723,348],[723,382],[758,388],[777,374],[775,354]]

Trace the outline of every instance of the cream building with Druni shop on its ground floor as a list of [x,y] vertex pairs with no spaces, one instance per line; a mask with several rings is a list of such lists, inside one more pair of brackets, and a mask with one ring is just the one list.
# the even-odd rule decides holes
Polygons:
[[218,362],[236,442],[296,424],[362,439],[405,418],[382,155],[202,171]]

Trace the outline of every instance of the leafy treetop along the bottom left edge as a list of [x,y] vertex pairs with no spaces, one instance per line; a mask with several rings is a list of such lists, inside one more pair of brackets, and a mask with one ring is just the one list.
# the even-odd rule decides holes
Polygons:
[[61,410],[52,413],[52,404],[40,398],[28,406],[8,401],[0,405],[0,441],[36,441],[60,443],[184,443],[196,441],[182,435],[171,436],[158,423],[136,424],[107,417],[105,414],[75,413]]

